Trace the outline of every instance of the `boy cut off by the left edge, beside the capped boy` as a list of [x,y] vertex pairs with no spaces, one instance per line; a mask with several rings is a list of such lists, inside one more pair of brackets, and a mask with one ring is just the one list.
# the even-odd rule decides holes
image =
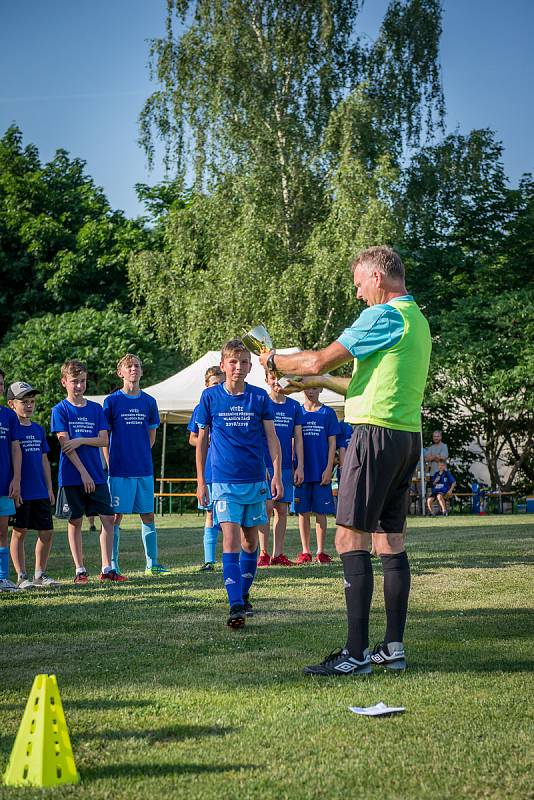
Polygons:
[[[4,393],[4,375],[0,370],[0,394]],[[17,415],[5,406],[0,406],[0,592],[16,591],[16,584],[8,579],[9,517],[20,503],[19,422]]]

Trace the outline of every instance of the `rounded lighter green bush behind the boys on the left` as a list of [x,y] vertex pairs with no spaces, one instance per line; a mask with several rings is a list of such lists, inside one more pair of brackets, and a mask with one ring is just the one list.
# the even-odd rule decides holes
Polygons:
[[181,366],[172,349],[158,344],[154,335],[123,314],[118,304],[104,311],[81,308],[57,316],[44,314],[14,326],[0,347],[0,365],[6,383],[25,380],[40,390],[35,419],[48,429],[52,406],[65,396],[60,375],[63,361],[84,361],[87,393],[107,394],[120,384],[116,364],[127,352],[141,358],[145,385]]

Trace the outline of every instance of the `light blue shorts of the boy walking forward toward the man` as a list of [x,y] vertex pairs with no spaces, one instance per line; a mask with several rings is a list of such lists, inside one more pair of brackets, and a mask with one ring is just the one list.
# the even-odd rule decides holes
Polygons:
[[265,481],[258,483],[213,483],[213,523],[233,522],[245,528],[265,525]]

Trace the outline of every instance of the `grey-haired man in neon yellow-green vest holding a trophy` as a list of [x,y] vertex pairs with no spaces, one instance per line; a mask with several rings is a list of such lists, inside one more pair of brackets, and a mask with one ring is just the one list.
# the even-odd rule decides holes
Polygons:
[[[353,325],[322,350],[261,356],[269,369],[321,376],[354,359],[352,377],[319,377],[316,385],[346,395],[354,426],[338,493],[336,549],[343,562],[348,636],[345,647],[309,675],[365,675],[372,665],[406,667],[403,635],[410,592],[404,525],[411,476],[421,453],[421,403],[430,361],[428,322],[405,284],[404,265],[389,247],[371,247],[352,264],[359,300]],[[309,383],[309,380],[307,380]],[[371,545],[384,568],[386,632],[369,651],[373,593]]]

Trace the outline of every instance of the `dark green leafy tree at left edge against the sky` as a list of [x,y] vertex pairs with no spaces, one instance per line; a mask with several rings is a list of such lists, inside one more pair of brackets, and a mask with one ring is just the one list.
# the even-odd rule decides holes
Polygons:
[[0,139],[0,337],[36,313],[127,303],[126,265],[142,224],[112,211],[85,162],[58,150],[41,165],[11,126]]

